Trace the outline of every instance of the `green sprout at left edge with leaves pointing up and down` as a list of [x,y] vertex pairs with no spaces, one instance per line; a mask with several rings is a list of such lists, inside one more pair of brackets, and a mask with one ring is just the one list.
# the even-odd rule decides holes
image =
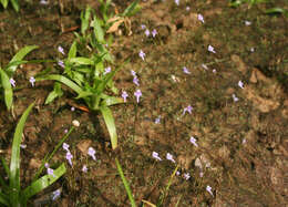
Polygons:
[[9,62],[4,68],[0,66],[0,91],[2,94],[0,95],[0,100],[4,100],[6,106],[8,110],[11,108],[13,104],[13,89],[12,84],[14,84],[14,80],[12,79],[18,65],[27,63],[28,61],[23,61],[23,58],[31,52],[32,50],[38,49],[37,45],[29,45],[22,48]]

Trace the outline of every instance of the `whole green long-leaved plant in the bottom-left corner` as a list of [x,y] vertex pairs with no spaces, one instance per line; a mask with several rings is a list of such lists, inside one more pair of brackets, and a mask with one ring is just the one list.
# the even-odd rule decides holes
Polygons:
[[44,188],[56,182],[65,172],[65,165],[60,165],[53,175],[44,175],[41,178],[34,180],[30,186],[21,189],[20,186],[20,144],[25,121],[34,103],[32,103],[22,114],[19,123],[17,124],[14,137],[12,142],[12,155],[10,161],[10,168],[8,167],[4,158],[1,157],[2,166],[9,178],[9,184],[0,176],[0,204],[4,206],[27,206],[27,201],[33,195],[40,193]]

